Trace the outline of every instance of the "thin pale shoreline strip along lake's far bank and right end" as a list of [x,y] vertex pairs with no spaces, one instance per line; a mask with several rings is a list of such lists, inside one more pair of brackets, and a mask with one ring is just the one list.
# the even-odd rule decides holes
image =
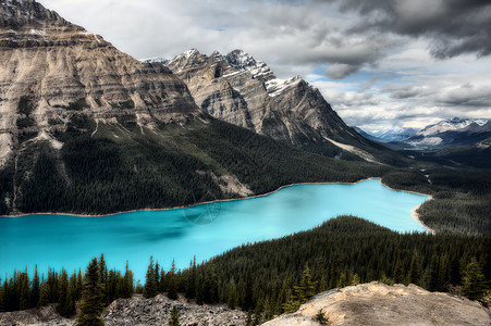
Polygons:
[[[293,186],[302,186],[302,185],[356,185],[356,184],[361,183],[361,181],[373,180],[373,179],[379,179],[380,184],[382,186],[384,186],[385,188],[388,188],[390,190],[393,190],[393,191],[403,191],[403,192],[409,192],[409,193],[414,193],[414,195],[425,196],[425,197],[428,198],[428,200],[432,200],[433,199],[433,197],[431,195],[391,188],[388,185],[382,183],[382,178],[381,177],[369,177],[369,178],[365,178],[365,179],[359,179],[359,180],[354,181],[354,183],[333,181],[333,183],[297,183],[297,184],[289,184],[289,185],[281,186],[281,187],[279,187],[275,190],[272,190],[272,191],[269,191],[269,192],[266,192],[266,193],[261,193],[261,195],[254,195],[254,196],[241,197],[241,198],[230,198],[230,199],[217,199],[217,200],[204,201],[204,202],[188,204],[188,205],[179,205],[179,206],[163,208],[163,209],[137,209],[137,210],[121,211],[121,212],[108,213],[108,214],[76,214],[76,213],[72,214],[72,213],[59,213],[59,212],[57,212],[57,213],[44,212],[44,213],[0,215],[0,218],[15,218],[15,217],[25,217],[25,216],[30,216],[30,215],[60,215],[60,216],[70,215],[70,216],[76,216],[76,217],[107,217],[107,216],[114,216],[114,215],[119,215],[119,214],[126,214],[126,213],[134,213],[134,212],[170,211],[170,210],[188,209],[188,208],[193,208],[193,206],[197,206],[197,205],[201,205],[201,204],[210,204],[210,203],[228,202],[228,201],[234,201],[234,200],[255,199],[255,198],[267,197],[267,196],[273,195],[273,193],[275,193],[275,192],[278,192],[278,191],[280,191],[280,190],[282,190],[284,188],[293,187]],[[435,235],[435,231],[432,228],[430,228],[429,226],[427,226],[425,223],[422,223],[422,221],[419,218],[419,214],[416,213],[416,211],[425,202],[422,202],[419,205],[417,205],[416,208],[414,208],[413,211],[410,212],[410,216],[413,218],[415,218],[429,233],[431,233],[432,235]]]

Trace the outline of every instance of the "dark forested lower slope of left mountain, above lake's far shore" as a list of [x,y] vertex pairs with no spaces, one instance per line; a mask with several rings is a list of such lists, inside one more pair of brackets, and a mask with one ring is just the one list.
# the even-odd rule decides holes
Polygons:
[[[204,120],[206,118],[206,120]],[[1,171],[0,214],[105,214],[163,209],[240,195],[220,187],[234,176],[253,193],[307,181],[356,181],[388,166],[310,154],[211,117],[140,128],[135,116],[96,124],[78,115],[63,143],[29,142]]]

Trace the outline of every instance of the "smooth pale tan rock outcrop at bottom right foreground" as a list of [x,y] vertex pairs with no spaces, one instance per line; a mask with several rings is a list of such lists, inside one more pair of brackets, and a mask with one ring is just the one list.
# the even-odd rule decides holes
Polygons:
[[490,310],[475,301],[376,281],[317,294],[296,313],[263,325],[320,325],[320,311],[329,325],[491,325]]

